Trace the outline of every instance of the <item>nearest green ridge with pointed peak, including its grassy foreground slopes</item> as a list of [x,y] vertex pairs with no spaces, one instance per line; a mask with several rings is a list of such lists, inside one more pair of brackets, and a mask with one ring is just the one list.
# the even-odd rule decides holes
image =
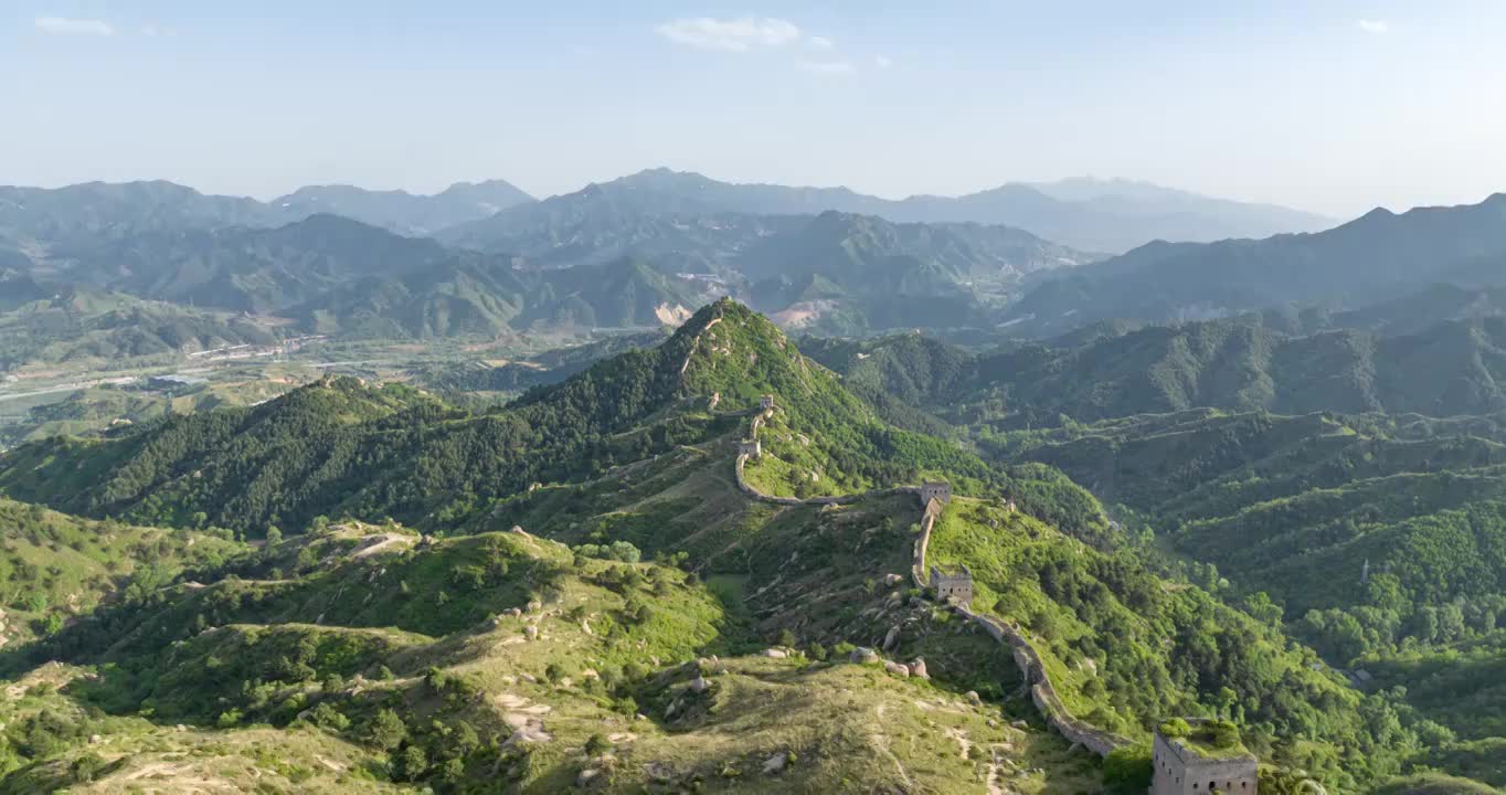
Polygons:
[[[747,482],[843,504],[771,504],[733,476],[762,394],[776,408]],[[1167,714],[1227,715],[1283,775],[1345,789],[1447,735],[1315,669],[1279,622],[1223,604],[1230,586],[1152,574],[1056,470],[892,426],[730,301],[485,414],[330,379],[113,440],[21,446],[0,458],[11,495],[268,544],[131,590],[0,664],[83,666],[42,669],[66,687],[29,703],[123,723],[80,718],[68,736],[104,729],[134,747],[151,730],[130,721],[146,715],[212,724],[232,745],[259,724],[294,732],[277,744],[312,730],[345,744],[328,759],[383,760],[375,783],[443,792],[495,774],[530,792],[602,775],[613,790],[645,777],[768,790],[840,781],[854,763],[887,780],[892,759],[896,780],[941,790],[1017,768],[1029,792],[1101,787],[1096,757],[1041,729],[1008,647],[902,586],[922,506],[884,488],[929,477],[956,495],[928,560],[974,569],[974,607],[1023,628],[1081,720],[1143,742]],[[866,667],[875,653],[920,656],[928,675]],[[789,733],[792,717],[807,732]],[[742,745],[718,744],[726,732]],[[980,742],[991,750],[971,754]],[[86,747],[18,748],[17,780],[139,769],[113,748],[90,768]],[[777,754],[794,772],[764,766]]]

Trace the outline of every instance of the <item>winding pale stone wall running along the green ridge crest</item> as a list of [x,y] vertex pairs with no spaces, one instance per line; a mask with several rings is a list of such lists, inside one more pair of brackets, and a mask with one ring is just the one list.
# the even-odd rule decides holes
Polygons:
[[[715,404],[712,404],[715,405]],[[764,428],[764,423],[774,416],[776,407],[765,402],[765,408],[753,410],[753,420],[748,429],[748,441],[758,441],[758,434]],[[739,413],[747,414],[747,413]],[[735,471],[738,488],[742,489],[748,497],[759,500],[762,503],[783,504],[783,506],[827,506],[827,504],[851,504],[860,500],[870,500],[875,497],[892,497],[896,494],[914,494],[922,495],[922,486],[896,486],[878,491],[863,491],[857,494],[843,494],[839,497],[776,497],[773,494],[764,494],[753,488],[747,482],[744,468],[747,465],[748,452],[745,447],[739,447]],[[925,590],[928,587],[926,580],[926,548],[931,545],[931,532],[935,528],[937,519],[944,510],[943,500],[931,498],[926,500],[925,509],[920,513],[920,533],[916,536],[914,556],[911,560],[910,575],[914,578],[916,587]],[[1114,748],[1134,745],[1130,738],[1116,735],[1113,732],[1105,732],[1089,723],[1084,723],[1072,715],[1062,703],[1060,696],[1056,693],[1056,685],[1051,684],[1051,675],[1047,673],[1045,664],[1041,661],[1041,653],[1035,650],[1030,640],[1020,631],[1020,628],[998,620],[992,616],[985,616],[982,613],[973,613],[964,605],[953,604],[959,616],[977,623],[983,632],[1000,643],[1009,644],[1012,649],[1012,656],[1015,666],[1020,669],[1020,675],[1024,678],[1026,685],[1030,687],[1030,700],[1035,702],[1041,717],[1045,718],[1047,726],[1056,730],[1059,735],[1066,738],[1074,744],[1096,753],[1098,756],[1108,756]]]

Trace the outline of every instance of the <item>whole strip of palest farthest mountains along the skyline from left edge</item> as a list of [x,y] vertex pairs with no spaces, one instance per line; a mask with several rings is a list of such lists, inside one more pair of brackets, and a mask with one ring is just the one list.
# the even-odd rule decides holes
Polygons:
[[[605,202],[610,208],[592,208],[593,202]],[[1086,251],[1123,251],[1154,239],[1254,238],[1331,226],[1328,218],[1274,205],[1096,179],[1006,184],[958,197],[889,200],[848,188],[730,184],[697,173],[649,169],[545,199],[550,206],[544,209],[521,209],[533,203],[527,193],[501,179],[458,182],[432,196],[310,185],[265,203],[200,194],[163,181],[89,182],[53,190],[0,187],[0,239],[57,241],[81,233],[277,226],[321,212],[405,235],[441,235],[450,242],[480,247],[575,226],[587,217],[596,226],[616,226],[611,212],[623,211],[651,217],[837,211],[895,223],[1012,226]]]

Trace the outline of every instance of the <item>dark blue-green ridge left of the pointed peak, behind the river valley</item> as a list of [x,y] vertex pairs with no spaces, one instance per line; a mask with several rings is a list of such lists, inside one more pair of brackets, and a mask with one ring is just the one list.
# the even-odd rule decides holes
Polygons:
[[446,248],[327,214],[273,229],[137,235],[80,251],[50,277],[182,306],[286,316],[310,333],[390,339],[495,336],[533,322],[655,327],[705,298],[703,286],[637,260],[521,271],[511,256]]

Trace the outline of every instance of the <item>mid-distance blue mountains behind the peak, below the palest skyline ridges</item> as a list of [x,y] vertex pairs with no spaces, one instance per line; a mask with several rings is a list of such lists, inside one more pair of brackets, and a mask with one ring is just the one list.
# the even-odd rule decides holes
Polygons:
[[[560,245],[551,230],[497,253],[331,214],[274,227],[187,229],[179,215],[136,233],[125,233],[130,221],[122,221],[111,233],[63,235],[50,253],[35,262],[23,256],[21,270],[6,273],[17,285],[11,303],[89,288],[289,318],[307,333],[432,339],[533,324],[678,322],[688,307],[735,292],[786,312],[792,325],[986,324],[1005,285],[1089,259],[1008,227],[892,224],[836,212],[687,223],[637,217],[639,224],[625,223],[630,215],[613,215],[590,242]],[[530,259],[535,250],[544,262]],[[810,280],[822,288],[801,286]]]

